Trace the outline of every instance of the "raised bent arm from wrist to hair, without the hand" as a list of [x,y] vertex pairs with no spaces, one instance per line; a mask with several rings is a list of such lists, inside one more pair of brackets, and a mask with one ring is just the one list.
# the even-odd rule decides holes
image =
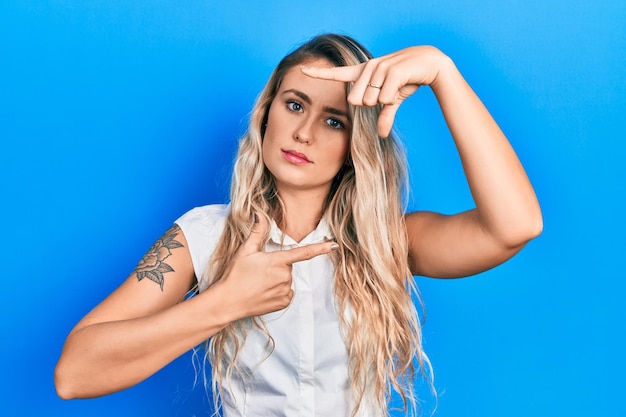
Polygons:
[[411,268],[462,277],[516,254],[543,228],[541,209],[509,141],[451,60],[430,84],[461,157],[476,208],[407,215]]

